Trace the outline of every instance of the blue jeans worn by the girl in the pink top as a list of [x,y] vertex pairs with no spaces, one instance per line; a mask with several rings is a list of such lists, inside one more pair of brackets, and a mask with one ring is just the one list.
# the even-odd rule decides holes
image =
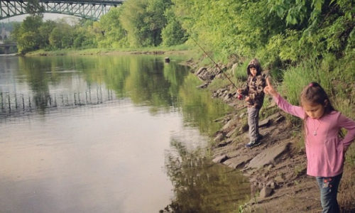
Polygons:
[[322,213],[338,213],[340,212],[337,202],[339,182],[342,175],[335,177],[317,177],[318,186],[320,187],[320,202],[322,203]]

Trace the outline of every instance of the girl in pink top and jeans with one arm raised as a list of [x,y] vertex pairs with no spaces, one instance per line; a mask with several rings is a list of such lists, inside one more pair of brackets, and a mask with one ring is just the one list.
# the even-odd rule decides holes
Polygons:
[[[340,212],[337,190],[343,173],[344,154],[355,138],[355,121],[336,111],[324,89],[316,82],[303,89],[301,107],[297,107],[280,97],[269,80],[266,81],[268,85],[264,92],[273,96],[278,107],[304,121],[307,175],[316,177],[323,212]],[[348,131],[344,138],[339,136],[342,128]]]

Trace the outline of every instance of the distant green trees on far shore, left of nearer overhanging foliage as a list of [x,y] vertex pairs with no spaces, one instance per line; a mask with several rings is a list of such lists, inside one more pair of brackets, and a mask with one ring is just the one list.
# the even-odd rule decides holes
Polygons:
[[12,38],[21,53],[62,48],[141,48],[179,45],[187,33],[175,17],[170,0],[125,1],[111,7],[99,21],[43,21],[32,13],[14,26]]

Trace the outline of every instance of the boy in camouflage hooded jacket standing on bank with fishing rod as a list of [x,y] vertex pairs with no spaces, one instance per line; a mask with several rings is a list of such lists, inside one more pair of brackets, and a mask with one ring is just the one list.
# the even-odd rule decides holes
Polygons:
[[237,89],[239,94],[245,96],[245,101],[248,106],[248,125],[249,125],[249,143],[246,143],[246,148],[253,148],[261,143],[261,134],[259,134],[258,121],[259,111],[263,106],[264,92],[266,87],[266,78],[261,75],[261,65],[256,58],[249,62],[246,68],[248,80],[246,87]]

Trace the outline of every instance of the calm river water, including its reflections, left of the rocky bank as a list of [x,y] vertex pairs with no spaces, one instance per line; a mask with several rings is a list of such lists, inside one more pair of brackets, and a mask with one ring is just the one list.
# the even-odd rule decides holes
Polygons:
[[1,212],[236,212],[206,148],[231,109],[180,60],[0,57]]

